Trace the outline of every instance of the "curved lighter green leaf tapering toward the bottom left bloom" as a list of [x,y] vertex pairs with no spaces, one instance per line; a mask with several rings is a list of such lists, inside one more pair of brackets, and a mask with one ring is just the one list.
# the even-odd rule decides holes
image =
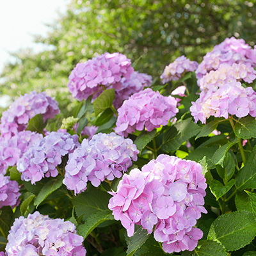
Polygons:
[[93,212],[92,215],[86,218],[83,225],[79,225],[77,227],[77,234],[86,239],[95,227],[106,220],[114,220],[114,216],[111,211],[104,210]]

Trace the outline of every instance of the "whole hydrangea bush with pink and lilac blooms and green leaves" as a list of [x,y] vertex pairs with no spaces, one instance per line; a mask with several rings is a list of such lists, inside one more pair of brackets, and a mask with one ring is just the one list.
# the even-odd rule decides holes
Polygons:
[[0,255],[256,255],[255,66],[236,38],[160,77],[107,52],[72,70],[62,125],[46,93],[20,96],[0,124]]

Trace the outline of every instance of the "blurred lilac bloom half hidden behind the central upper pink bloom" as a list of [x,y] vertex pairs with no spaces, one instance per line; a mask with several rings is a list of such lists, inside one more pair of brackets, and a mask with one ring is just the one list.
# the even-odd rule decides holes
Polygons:
[[152,76],[134,71],[129,79],[123,77],[121,83],[122,87],[116,90],[116,97],[113,101],[115,108],[120,108],[124,100],[127,100],[132,94],[142,91],[144,87],[151,86]]

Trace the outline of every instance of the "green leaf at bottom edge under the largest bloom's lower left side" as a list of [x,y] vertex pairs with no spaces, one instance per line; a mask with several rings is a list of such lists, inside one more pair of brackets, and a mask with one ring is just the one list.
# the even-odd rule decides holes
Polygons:
[[129,239],[127,243],[127,256],[132,256],[138,250],[142,244],[147,241],[149,234],[147,230],[143,229],[142,227],[138,228],[134,235]]

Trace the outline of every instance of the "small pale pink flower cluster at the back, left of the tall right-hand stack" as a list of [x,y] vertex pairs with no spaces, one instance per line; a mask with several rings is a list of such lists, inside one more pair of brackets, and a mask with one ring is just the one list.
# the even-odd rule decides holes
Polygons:
[[179,80],[186,72],[193,72],[197,67],[198,63],[196,61],[191,61],[182,55],[164,68],[164,72],[160,78],[163,79],[163,84],[169,81]]

